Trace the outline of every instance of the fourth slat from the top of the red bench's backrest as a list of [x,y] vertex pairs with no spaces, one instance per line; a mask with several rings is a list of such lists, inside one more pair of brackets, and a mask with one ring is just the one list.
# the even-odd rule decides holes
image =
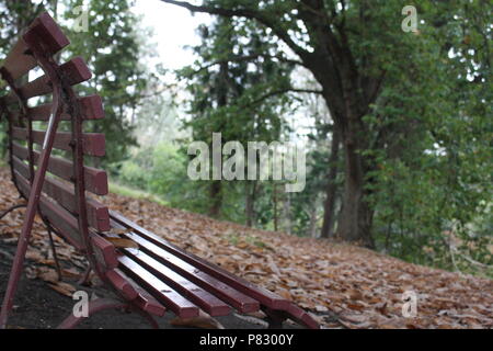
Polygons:
[[[33,131],[33,141],[43,145],[46,132]],[[18,140],[27,140],[27,129],[21,127],[12,127],[12,137]],[[84,133],[82,135],[82,150],[84,155],[103,157],[105,155],[105,138],[102,133]],[[69,132],[57,132],[55,135],[54,148],[71,151],[70,141],[72,134]]]

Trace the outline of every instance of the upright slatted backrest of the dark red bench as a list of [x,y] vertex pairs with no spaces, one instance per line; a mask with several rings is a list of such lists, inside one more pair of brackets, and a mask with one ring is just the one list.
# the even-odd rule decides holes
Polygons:
[[[107,176],[104,170],[84,166],[83,160],[104,156],[105,138],[104,134],[84,133],[83,121],[103,118],[104,112],[99,95],[78,97],[72,89],[91,78],[82,58],[57,63],[57,54],[68,44],[48,13],[36,18],[0,68],[1,78],[10,88],[0,98],[0,107],[9,123],[13,182],[25,199],[30,197],[35,173],[39,171],[46,131],[54,115],[59,116],[53,145],[59,151],[51,152],[47,163],[38,214],[77,249],[85,251],[91,242],[89,251],[100,257],[114,248],[91,233],[110,230],[108,210],[87,197],[85,192],[105,195]],[[36,67],[44,75],[28,81],[28,73]],[[55,152],[58,155],[54,156]]]

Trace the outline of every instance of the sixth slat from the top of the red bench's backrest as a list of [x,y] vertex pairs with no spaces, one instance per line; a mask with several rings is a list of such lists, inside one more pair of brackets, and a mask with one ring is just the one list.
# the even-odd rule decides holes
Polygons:
[[[30,168],[16,156],[12,157],[13,168],[18,170],[25,179],[30,179]],[[46,177],[43,184],[43,191],[51,199],[55,199],[61,206],[71,213],[78,213],[77,199],[73,189],[55,179]],[[110,230],[110,214],[107,206],[93,200],[87,199],[87,211],[89,225],[98,231]]]

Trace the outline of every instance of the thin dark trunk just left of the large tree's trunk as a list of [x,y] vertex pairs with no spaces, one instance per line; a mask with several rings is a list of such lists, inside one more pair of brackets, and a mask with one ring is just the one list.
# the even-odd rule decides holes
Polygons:
[[329,176],[326,186],[326,197],[323,213],[323,225],[321,238],[330,238],[334,236],[335,223],[335,193],[337,184],[335,178],[337,177],[337,161],[339,161],[339,146],[341,144],[341,134],[334,128],[332,133],[331,156],[329,159]]

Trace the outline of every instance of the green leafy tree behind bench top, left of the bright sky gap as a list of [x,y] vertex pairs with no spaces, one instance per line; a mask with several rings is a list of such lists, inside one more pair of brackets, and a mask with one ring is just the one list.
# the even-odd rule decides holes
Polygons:
[[[83,2],[65,0],[68,23],[80,15],[72,11]],[[140,24],[129,11],[130,4],[128,0],[91,0],[84,8],[89,10],[89,31],[66,29],[70,54],[82,56],[93,72],[84,93],[98,93],[104,102],[104,120],[89,123],[87,128],[106,135],[105,165],[125,159],[137,145],[129,116],[138,107],[149,77],[139,64],[145,43],[138,36]]]

